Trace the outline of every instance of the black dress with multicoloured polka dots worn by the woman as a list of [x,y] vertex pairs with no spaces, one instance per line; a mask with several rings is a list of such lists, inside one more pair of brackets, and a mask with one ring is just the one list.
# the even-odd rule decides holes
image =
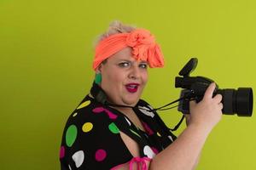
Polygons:
[[[118,169],[124,163],[150,161],[176,137],[169,131],[152,107],[142,99],[134,112],[145,132],[123,113],[97,102],[87,95],[73,111],[64,128],[60,161],[61,170]],[[139,146],[139,157],[133,157],[120,137],[123,132]]]

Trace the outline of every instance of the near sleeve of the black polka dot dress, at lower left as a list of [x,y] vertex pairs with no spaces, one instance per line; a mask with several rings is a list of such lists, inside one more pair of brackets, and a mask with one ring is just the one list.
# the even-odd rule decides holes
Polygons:
[[111,169],[131,161],[120,137],[115,115],[103,107],[87,106],[69,117],[61,142],[61,170]]

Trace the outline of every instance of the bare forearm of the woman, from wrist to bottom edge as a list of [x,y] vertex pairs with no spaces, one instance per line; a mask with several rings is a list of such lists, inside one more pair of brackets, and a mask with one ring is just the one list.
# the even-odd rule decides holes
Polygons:
[[210,129],[191,125],[150,163],[150,170],[191,170],[195,168]]

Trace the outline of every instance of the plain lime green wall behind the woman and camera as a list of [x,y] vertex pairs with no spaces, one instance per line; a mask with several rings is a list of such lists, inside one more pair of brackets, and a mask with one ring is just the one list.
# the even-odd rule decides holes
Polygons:
[[[174,77],[191,57],[199,59],[191,76],[256,89],[255,8],[253,0],[0,0],[0,169],[59,169],[67,116],[93,81],[93,41],[112,20],[152,31],[161,45],[166,66],[149,70],[143,94],[154,107],[178,98]],[[170,127],[181,116],[160,115]],[[223,116],[197,169],[256,169],[255,122]]]

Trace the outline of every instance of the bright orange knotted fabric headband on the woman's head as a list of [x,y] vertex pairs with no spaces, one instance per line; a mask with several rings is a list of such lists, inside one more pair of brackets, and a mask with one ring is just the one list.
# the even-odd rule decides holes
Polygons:
[[113,34],[103,39],[96,46],[93,69],[119,50],[131,47],[132,55],[137,60],[147,61],[151,68],[163,67],[164,57],[160,46],[154,41],[154,36],[148,30],[136,29],[130,33]]

